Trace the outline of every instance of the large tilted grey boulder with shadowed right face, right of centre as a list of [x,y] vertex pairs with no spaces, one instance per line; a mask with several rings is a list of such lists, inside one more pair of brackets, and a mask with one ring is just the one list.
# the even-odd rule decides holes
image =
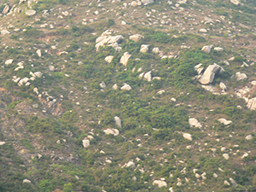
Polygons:
[[201,78],[198,80],[201,84],[211,84],[215,74],[221,70],[221,67],[216,63],[207,67],[206,71],[202,74]]

